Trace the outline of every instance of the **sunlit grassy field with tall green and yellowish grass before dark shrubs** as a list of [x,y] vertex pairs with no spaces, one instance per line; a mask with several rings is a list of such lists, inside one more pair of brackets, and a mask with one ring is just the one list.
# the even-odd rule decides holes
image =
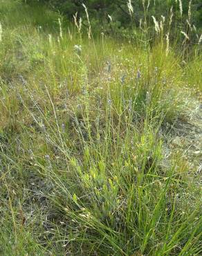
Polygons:
[[201,255],[200,35],[0,22],[0,255]]

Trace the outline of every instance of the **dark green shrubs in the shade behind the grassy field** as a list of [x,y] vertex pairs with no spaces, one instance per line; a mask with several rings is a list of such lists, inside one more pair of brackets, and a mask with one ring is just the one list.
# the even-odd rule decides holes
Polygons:
[[[24,0],[22,0],[24,1]],[[147,19],[147,22],[152,22],[152,15],[156,19],[160,19],[161,15],[169,17],[169,10],[173,7],[174,19],[176,23],[173,24],[176,28],[181,29],[183,24],[187,23],[187,12],[189,10],[188,0],[156,0],[156,1],[130,1],[131,6],[134,8],[132,17],[129,15],[127,1],[125,0],[26,0],[26,3],[46,3],[50,8],[59,10],[68,20],[73,20],[73,15],[77,12],[77,16],[86,19],[85,11],[82,6],[84,3],[89,11],[91,24],[96,30],[129,30],[129,28],[138,28],[141,20]],[[181,7],[182,6],[182,7]],[[181,13],[182,11],[182,13]],[[110,17],[109,17],[110,15]],[[192,21],[197,28],[202,26],[202,4],[200,0],[192,1]],[[110,25],[109,25],[110,24]]]

